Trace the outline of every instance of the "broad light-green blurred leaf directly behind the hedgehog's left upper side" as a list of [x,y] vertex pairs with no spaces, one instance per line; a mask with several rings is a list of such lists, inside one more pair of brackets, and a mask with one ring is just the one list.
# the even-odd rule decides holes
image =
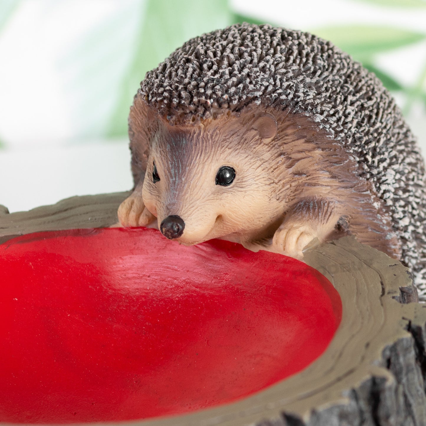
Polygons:
[[116,137],[127,134],[129,108],[147,71],[188,39],[230,23],[232,13],[227,0],[147,0],[140,32],[135,34],[133,60],[121,82],[121,94],[111,116],[107,135]]

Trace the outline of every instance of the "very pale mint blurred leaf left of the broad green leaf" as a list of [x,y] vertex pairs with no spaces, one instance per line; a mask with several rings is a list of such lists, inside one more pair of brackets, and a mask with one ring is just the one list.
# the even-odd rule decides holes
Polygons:
[[121,5],[115,6],[115,13],[90,26],[55,59],[80,143],[105,135],[144,16],[143,0],[116,3]]

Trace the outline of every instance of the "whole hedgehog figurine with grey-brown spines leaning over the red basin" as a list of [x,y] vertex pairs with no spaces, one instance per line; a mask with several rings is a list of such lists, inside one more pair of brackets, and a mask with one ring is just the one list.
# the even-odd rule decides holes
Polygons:
[[129,135],[121,225],[299,259],[353,234],[426,298],[423,159],[380,80],[332,43],[248,23],[193,38],[141,82]]

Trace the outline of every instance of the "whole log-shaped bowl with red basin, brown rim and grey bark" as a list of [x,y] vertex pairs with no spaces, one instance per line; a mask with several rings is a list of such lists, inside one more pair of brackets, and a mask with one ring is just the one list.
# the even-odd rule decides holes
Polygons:
[[426,309],[352,237],[305,263],[108,228],[127,194],[0,207],[0,422],[426,424]]

